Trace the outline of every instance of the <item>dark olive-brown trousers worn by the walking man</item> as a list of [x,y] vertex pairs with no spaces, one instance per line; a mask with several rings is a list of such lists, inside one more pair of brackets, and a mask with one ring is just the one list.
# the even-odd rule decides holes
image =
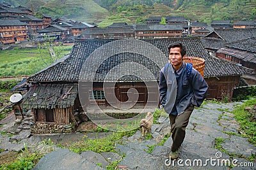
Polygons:
[[184,113],[178,116],[169,115],[173,141],[171,147],[172,152],[178,150],[180,145],[184,141],[186,127],[188,126],[189,117],[193,110],[194,106],[190,104],[188,108],[184,111]]

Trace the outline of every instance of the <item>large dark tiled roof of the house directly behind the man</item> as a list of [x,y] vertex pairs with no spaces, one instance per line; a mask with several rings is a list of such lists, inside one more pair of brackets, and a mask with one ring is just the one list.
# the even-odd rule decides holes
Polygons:
[[[157,62],[166,63],[168,62],[168,45],[170,45],[170,43],[178,41],[184,43],[184,45],[187,46],[187,56],[202,57],[205,59],[205,77],[240,75],[249,72],[248,69],[244,69],[244,67],[237,66],[236,64],[228,62],[227,60],[211,57],[211,55],[209,55],[207,51],[204,49],[204,46],[202,45],[200,38],[145,39],[143,41],[138,39],[129,39],[125,41],[88,39],[83,41],[76,41],[76,44],[73,46],[72,51],[70,53],[70,57],[52,67],[49,67],[48,69],[45,69],[44,71],[41,71],[38,74],[31,76],[30,78],[28,78],[28,81],[79,81],[79,73],[83,67],[83,64],[85,61],[88,62],[88,60],[86,59],[88,59],[88,56],[92,53],[92,55],[97,55],[95,55],[95,59],[93,60],[93,62],[90,62],[88,66],[87,64],[85,64],[85,69],[86,67],[88,67],[87,69],[95,69],[95,63],[102,62],[102,66],[96,67],[99,68],[97,70],[97,73],[99,74],[96,74],[95,78],[103,78],[109,69],[113,68],[113,66],[116,66],[115,64],[118,64],[123,61],[136,62],[140,64],[140,66],[143,65],[146,67],[150,67],[150,70],[154,70],[156,69],[154,63],[156,62],[151,62],[151,64],[147,66],[147,64],[150,63],[150,60],[148,59],[151,58],[148,57],[148,59],[144,59],[142,55],[149,55],[152,57],[152,59],[156,60]],[[136,46],[134,45],[134,43],[137,43]],[[164,55],[166,55],[166,59],[164,60],[163,58],[159,57],[159,55],[156,55],[157,48],[152,48],[153,50],[150,51],[145,50],[148,48],[148,46],[150,46],[147,45],[147,43],[150,43],[151,45],[154,45],[159,50],[161,50],[161,52],[163,52]],[[132,50],[134,49],[139,50],[136,50],[136,52],[132,52]],[[106,53],[112,53],[112,55],[109,55],[108,57]],[[100,60],[104,59],[104,57],[106,56],[108,57],[107,60]],[[90,59],[92,59],[92,57],[90,57]],[[133,67],[129,69],[131,69],[132,71],[132,68]],[[134,69],[136,68],[134,67]],[[158,71],[159,68],[155,71],[155,73],[157,73]],[[152,72],[154,73],[154,71]],[[110,74],[109,78],[116,78],[118,77],[118,74],[116,73],[116,77],[112,76],[113,75]],[[132,76],[124,77],[124,80],[139,81],[137,79],[134,80],[134,77]]]

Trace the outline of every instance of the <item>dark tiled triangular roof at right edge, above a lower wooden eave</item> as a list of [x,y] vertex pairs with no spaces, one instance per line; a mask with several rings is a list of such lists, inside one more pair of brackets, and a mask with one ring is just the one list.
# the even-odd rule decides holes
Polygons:
[[234,48],[237,50],[256,53],[256,34],[255,34],[255,37],[247,38],[247,39],[243,39],[243,40],[235,41],[231,43],[226,43],[225,46],[227,46],[228,48]]

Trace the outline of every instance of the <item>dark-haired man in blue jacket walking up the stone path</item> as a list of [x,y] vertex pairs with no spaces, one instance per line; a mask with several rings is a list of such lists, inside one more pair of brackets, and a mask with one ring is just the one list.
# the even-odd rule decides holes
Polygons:
[[191,64],[183,62],[186,47],[182,43],[173,43],[168,52],[169,62],[159,74],[159,92],[160,102],[169,114],[171,124],[173,144],[170,159],[177,159],[189,117],[195,106],[203,103],[208,85]]

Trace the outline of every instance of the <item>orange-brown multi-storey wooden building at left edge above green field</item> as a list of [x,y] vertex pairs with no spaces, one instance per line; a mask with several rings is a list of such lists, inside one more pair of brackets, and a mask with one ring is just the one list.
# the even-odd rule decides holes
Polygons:
[[0,42],[4,44],[26,41],[28,39],[28,27],[19,20],[0,19]]

